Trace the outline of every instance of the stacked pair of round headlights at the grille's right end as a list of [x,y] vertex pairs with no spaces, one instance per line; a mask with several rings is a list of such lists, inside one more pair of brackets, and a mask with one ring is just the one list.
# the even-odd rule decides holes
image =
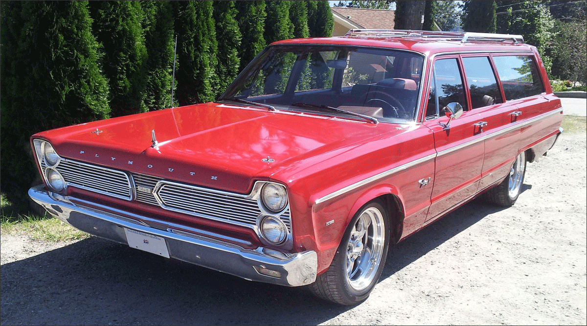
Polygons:
[[[265,210],[278,213],[288,205],[288,194],[284,186],[276,183],[266,183],[261,190],[261,203]],[[278,217],[263,215],[259,220],[261,235],[266,241],[279,245],[288,236],[288,228]]]

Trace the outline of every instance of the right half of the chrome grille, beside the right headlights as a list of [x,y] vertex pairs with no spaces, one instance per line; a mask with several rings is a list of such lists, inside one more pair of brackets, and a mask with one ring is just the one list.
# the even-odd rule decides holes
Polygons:
[[[224,193],[185,184],[164,181],[156,189],[156,196],[161,207],[166,210],[247,227],[255,225],[257,217],[263,214],[257,200],[248,198],[248,195]],[[289,229],[289,208],[279,218]]]

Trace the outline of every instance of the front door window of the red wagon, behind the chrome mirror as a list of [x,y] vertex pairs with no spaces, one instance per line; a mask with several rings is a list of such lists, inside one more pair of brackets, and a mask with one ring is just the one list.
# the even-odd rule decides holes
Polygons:
[[434,77],[436,78],[436,96],[438,108],[446,107],[450,102],[458,102],[467,111],[467,99],[463,87],[463,78],[456,58],[440,59],[434,62]]

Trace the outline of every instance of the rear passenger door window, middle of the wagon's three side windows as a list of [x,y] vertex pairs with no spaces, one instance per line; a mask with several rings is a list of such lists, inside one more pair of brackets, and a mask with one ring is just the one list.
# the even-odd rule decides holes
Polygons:
[[471,93],[471,108],[482,108],[503,102],[488,57],[463,58],[463,67]]

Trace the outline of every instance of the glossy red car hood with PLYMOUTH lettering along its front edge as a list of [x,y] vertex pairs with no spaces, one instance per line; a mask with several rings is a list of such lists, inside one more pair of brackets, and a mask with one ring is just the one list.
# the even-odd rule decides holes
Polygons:
[[255,179],[269,180],[294,162],[318,162],[316,156],[390,127],[207,103],[83,123],[33,137],[49,140],[59,155],[70,159],[247,193]]

